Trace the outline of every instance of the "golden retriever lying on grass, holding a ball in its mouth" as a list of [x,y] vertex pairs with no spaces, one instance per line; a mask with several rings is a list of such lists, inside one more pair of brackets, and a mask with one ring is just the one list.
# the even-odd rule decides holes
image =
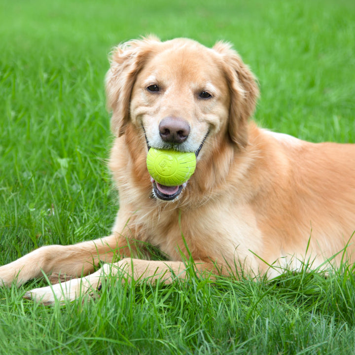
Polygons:
[[[24,296],[49,304],[95,290],[107,275],[170,283],[187,277],[191,259],[202,277],[275,277],[307,260],[339,265],[344,254],[354,261],[355,144],[259,128],[256,79],[229,43],[123,43],[112,52],[106,95],[120,201],[112,234],[36,249],[1,266],[0,284],[72,277]],[[146,167],[150,147],[194,152],[194,174],[179,186],[158,183]],[[147,243],[168,260],[142,257]]]

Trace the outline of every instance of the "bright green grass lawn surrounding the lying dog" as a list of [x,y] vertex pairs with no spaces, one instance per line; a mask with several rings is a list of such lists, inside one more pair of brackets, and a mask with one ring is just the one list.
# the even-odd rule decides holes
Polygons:
[[[355,142],[355,4],[332,0],[0,1],[0,265],[107,235],[107,55],[154,33],[234,43],[259,79],[255,119]],[[54,209],[53,213],[49,213]],[[96,301],[44,307],[0,289],[0,354],[354,354],[355,279],[108,280]]]

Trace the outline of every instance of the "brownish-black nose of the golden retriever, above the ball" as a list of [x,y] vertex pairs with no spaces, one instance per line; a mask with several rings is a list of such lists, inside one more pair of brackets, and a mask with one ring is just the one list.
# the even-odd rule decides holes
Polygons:
[[159,134],[164,142],[182,143],[190,134],[190,126],[181,118],[165,117],[159,124]]

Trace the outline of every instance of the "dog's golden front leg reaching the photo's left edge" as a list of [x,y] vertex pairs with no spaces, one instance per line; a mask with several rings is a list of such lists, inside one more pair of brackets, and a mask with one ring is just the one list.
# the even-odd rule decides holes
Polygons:
[[[120,250],[123,249],[123,250]],[[23,284],[44,274],[56,273],[70,277],[87,275],[100,261],[111,262],[115,253],[130,255],[127,241],[116,235],[70,246],[52,245],[0,266],[0,286]]]

